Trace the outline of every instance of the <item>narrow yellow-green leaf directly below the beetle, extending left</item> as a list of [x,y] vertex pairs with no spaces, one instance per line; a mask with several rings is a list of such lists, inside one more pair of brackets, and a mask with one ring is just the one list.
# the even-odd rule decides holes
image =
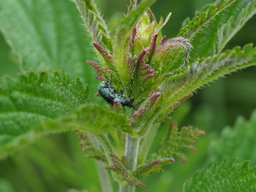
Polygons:
[[109,131],[126,131],[129,128],[124,115],[99,105],[83,105],[72,114],[41,123],[37,131],[49,134],[70,130],[89,131],[103,134]]

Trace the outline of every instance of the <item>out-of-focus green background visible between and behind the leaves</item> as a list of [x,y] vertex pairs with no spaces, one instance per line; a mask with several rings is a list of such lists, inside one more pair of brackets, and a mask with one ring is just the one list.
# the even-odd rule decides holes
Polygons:
[[[37,0],[39,1],[39,0]],[[68,1],[68,0],[63,0]],[[192,17],[210,0],[159,0],[152,7],[157,18],[172,12],[163,34],[175,37],[182,21]],[[118,19],[127,11],[128,0],[97,0],[99,9],[114,31]],[[1,10],[0,10],[1,11]],[[1,18],[4,19],[4,18]],[[236,34],[226,48],[235,45],[256,44],[256,17]],[[197,47],[194,46],[194,49]],[[0,34],[0,75],[14,76],[18,73],[17,59]],[[207,135],[197,142],[197,153],[188,153],[187,164],[177,161],[166,166],[166,172],[146,177],[147,189],[138,191],[178,192],[182,184],[208,160],[207,151],[211,141],[218,138],[222,128],[232,126],[238,115],[249,118],[256,108],[256,69],[249,68],[211,82],[195,93],[192,99],[176,110],[173,119],[181,126],[193,125],[206,131]],[[92,91],[92,92],[95,92]],[[159,145],[167,123],[157,135],[154,147]],[[18,151],[0,161],[1,191],[67,191],[69,188],[100,191],[97,168],[92,159],[83,157],[75,134],[61,134],[41,139],[34,145]],[[116,186],[116,183],[114,183]]]

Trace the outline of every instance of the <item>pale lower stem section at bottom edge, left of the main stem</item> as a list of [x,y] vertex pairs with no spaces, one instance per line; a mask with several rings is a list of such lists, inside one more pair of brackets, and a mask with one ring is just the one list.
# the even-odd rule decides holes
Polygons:
[[102,187],[102,192],[113,192],[112,183],[110,181],[110,175],[108,171],[105,169],[105,164],[101,161],[96,161],[98,173],[99,173],[99,181]]

